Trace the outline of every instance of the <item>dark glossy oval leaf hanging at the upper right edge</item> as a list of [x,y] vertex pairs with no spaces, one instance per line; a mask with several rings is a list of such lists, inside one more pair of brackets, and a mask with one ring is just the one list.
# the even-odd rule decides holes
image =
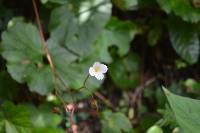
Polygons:
[[199,38],[194,25],[179,20],[169,22],[169,35],[175,51],[188,63],[194,64],[199,57]]

